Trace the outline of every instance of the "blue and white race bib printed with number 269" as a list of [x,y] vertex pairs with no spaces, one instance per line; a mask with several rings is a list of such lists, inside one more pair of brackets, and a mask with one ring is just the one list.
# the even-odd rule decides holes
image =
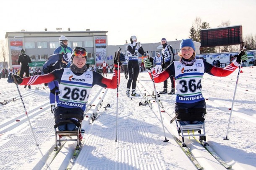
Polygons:
[[70,68],[64,68],[59,85],[59,103],[57,106],[85,110],[92,81],[92,71],[87,70],[82,75],[75,75]]

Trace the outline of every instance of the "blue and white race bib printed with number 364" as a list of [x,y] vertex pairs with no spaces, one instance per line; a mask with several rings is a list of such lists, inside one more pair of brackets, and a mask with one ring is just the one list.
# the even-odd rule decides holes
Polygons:
[[175,61],[176,102],[195,103],[204,100],[201,79],[204,75],[204,62],[197,59],[192,66],[185,66]]

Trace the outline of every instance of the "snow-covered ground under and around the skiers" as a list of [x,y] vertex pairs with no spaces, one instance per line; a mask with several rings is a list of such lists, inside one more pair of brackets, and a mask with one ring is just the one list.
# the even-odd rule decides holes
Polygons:
[[[236,92],[228,139],[227,134],[230,110],[235,90],[238,70],[228,77],[213,77],[205,74],[202,82],[203,95],[207,103],[206,139],[219,156],[234,170],[256,170],[256,68],[243,67],[240,73]],[[110,77],[110,75],[108,75]],[[154,91],[152,81],[147,72],[141,72],[138,77],[138,88],[141,93]],[[170,82],[170,81],[169,81]],[[85,118],[82,128],[85,145],[76,160],[74,170],[192,170],[196,169],[181,148],[172,139],[177,135],[175,123],[170,124],[174,116],[175,95],[161,95],[166,113],[162,113],[165,134],[162,128],[157,103],[153,108],[138,106],[143,97],[130,98],[125,96],[127,80],[123,73],[118,98],[118,126],[116,126],[116,89],[109,89],[104,98],[104,105],[110,103],[110,108],[99,111],[102,115],[91,125]],[[156,84],[162,91],[163,83]],[[169,83],[170,86],[170,83]],[[35,88],[39,88],[36,90]],[[0,101],[16,98],[6,105],[0,105],[0,169],[9,170],[39,170],[44,167],[49,153],[55,145],[54,116],[50,113],[50,90],[44,85],[24,89],[19,86],[24,104],[33,127],[39,146],[36,145],[26,114],[19,99],[15,84],[7,79],[0,80]],[[100,90],[94,86],[89,102],[93,104],[101,99]],[[100,92],[99,92],[100,91]],[[169,87],[170,91],[170,87]],[[137,89],[137,92],[139,90]],[[150,98],[150,97],[149,97]],[[94,107],[89,111],[89,115]],[[162,110],[162,108],[161,108]],[[20,121],[16,121],[16,120]],[[117,142],[116,138],[117,127]],[[169,142],[163,142],[165,137]],[[194,139],[185,139],[193,155],[205,170],[225,169]],[[73,142],[67,142],[49,169],[64,170],[75,148]]]

